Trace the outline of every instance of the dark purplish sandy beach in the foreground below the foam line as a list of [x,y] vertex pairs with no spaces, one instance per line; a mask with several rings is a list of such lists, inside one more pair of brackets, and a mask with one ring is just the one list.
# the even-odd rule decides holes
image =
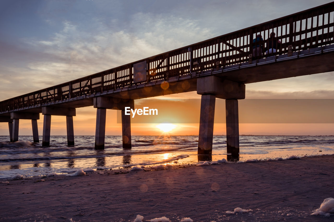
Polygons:
[[[0,221],[333,221],[334,155],[155,171],[95,171],[0,183]],[[41,181],[41,179],[45,181]],[[251,213],[226,214],[234,208]]]

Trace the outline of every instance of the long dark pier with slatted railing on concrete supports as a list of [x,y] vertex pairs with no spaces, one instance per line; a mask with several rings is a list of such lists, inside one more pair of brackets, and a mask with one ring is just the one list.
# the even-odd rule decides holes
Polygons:
[[[274,43],[271,33],[281,43],[264,54],[264,49]],[[262,39],[254,41],[259,35]],[[1,101],[0,122],[8,123],[10,141],[15,142],[19,139],[19,120],[31,120],[33,142],[39,142],[37,120],[42,113],[42,146],[47,147],[51,117],[64,116],[67,144],[74,146],[75,109],[94,106],[95,149],[104,149],[106,110],[121,110],[123,148],[131,149],[131,117],[125,115],[125,107],[134,108],[137,99],[196,91],[201,95],[198,154],[212,153],[218,98],[226,104],[227,153],[238,158],[238,100],[245,98],[246,84],[331,72],[333,59],[332,2]]]

